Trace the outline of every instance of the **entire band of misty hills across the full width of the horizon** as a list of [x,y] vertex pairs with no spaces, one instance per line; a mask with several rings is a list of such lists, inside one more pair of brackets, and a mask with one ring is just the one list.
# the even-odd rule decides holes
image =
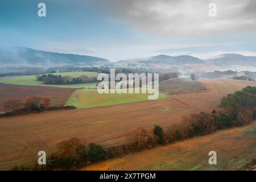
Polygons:
[[110,63],[108,59],[94,56],[76,55],[70,53],[57,53],[40,51],[32,48],[15,47],[0,49],[0,64],[3,65],[39,65],[55,67],[63,65],[113,65],[114,67],[148,67],[175,69],[186,72],[192,70],[201,71],[256,71],[256,56],[243,56],[236,53],[225,53],[203,60],[195,56],[157,55],[132,60],[121,60]]

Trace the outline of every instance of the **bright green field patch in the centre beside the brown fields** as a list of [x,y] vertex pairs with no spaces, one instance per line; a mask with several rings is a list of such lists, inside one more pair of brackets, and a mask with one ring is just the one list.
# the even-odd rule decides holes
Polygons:
[[[167,97],[159,93],[159,99]],[[115,104],[125,104],[128,102],[137,102],[148,100],[148,94],[142,93],[114,93],[114,94],[100,94],[97,89],[82,89],[77,90],[73,97],[69,99],[67,105],[73,105],[77,108],[106,106]]]

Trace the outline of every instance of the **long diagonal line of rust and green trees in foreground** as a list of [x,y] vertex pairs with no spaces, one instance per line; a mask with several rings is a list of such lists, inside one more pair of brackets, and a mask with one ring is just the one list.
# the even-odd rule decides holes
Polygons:
[[[71,169],[98,160],[115,158],[131,152],[153,148],[163,144],[203,136],[234,126],[243,126],[256,119],[256,87],[247,86],[221,99],[217,110],[211,113],[193,113],[166,129],[155,125],[150,129],[135,128],[127,133],[125,144],[103,148],[95,143],[86,144],[83,138],[72,138],[57,144],[46,166],[35,165],[32,169]],[[15,169],[27,169],[16,167]]]

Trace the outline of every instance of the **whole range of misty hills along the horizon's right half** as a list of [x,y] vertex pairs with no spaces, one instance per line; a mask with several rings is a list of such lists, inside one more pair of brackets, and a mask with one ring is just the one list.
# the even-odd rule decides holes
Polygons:
[[211,59],[199,59],[189,55],[158,55],[144,59],[122,60],[119,64],[128,66],[146,66],[153,68],[194,69],[201,71],[256,71],[256,56],[243,56],[236,53],[225,53]]

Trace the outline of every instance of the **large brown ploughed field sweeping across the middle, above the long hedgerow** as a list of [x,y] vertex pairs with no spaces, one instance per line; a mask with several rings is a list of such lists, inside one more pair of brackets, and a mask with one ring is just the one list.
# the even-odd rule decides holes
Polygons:
[[[148,100],[89,109],[48,111],[46,113],[0,118],[0,169],[23,162],[20,156],[24,144],[48,140],[52,146],[71,137],[86,137],[104,147],[126,141],[127,131],[134,127],[166,127],[179,122],[183,115],[212,111],[220,99],[254,81],[202,80],[209,90],[180,94],[162,100]],[[42,149],[44,150],[44,149]]]

